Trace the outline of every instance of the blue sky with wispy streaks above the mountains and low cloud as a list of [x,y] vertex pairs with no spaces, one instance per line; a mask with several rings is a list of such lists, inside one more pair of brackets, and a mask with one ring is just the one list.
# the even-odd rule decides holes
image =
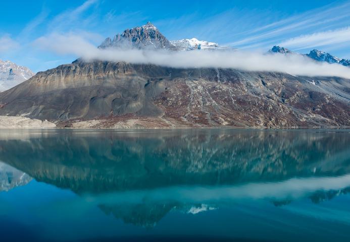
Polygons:
[[98,45],[124,29],[154,23],[170,40],[195,37],[240,49],[275,44],[318,48],[350,58],[350,1],[6,1],[0,9],[0,59],[34,72],[78,56],[43,50],[35,40],[76,34]]

